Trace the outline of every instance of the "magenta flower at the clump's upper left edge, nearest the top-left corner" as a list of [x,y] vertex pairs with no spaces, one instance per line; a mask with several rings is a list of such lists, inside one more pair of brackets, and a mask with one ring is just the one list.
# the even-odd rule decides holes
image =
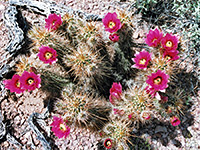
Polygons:
[[61,15],[50,14],[47,19],[45,19],[45,28],[49,31],[57,30],[58,27],[62,24]]

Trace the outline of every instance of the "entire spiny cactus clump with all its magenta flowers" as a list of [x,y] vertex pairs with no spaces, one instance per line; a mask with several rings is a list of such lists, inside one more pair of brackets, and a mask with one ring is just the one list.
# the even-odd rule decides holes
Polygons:
[[[41,90],[58,92],[52,94],[53,112],[61,118],[54,117],[51,125],[59,138],[67,137],[71,125],[86,127],[100,132],[106,148],[128,149],[139,124],[159,115],[173,126],[180,123],[186,96],[172,90],[183,52],[180,37],[156,28],[147,33],[148,47],[135,51],[134,16],[118,14],[108,13],[103,24],[50,14],[45,27],[29,32],[33,46],[28,58],[20,56],[16,74],[34,74],[41,78]],[[18,83],[13,86],[27,90]],[[28,86],[35,83],[27,79]],[[30,89],[35,88],[39,85]]]

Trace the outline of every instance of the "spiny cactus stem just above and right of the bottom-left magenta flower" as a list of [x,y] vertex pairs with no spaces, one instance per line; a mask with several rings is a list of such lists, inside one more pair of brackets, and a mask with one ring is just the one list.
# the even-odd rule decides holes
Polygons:
[[[104,101],[104,103],[103,103]],[[78,91],[63,91],[56,102],[56,110],[69,123],[92,130],[100,129],[108,121],[110,108],[106,101]]]

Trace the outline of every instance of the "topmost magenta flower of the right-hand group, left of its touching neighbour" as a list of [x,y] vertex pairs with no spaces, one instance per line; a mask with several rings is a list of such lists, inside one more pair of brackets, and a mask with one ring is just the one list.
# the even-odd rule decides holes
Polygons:
[[163,37],[162,32],[160,32],[157,28],[153,31],[150,30],[147,34],[147,38],[145,39],[145,42],[147,45],[151,47],[157,47],[160,44],[160,41]]

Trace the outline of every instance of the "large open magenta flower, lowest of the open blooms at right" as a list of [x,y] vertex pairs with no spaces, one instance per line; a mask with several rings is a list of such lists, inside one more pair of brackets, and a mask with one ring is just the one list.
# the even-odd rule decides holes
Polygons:
[[169,75],[165,74],[164,71],[158,70],[156,73],[152,73],[148,76],[146,82],[156,91],[164,90],[168,87]]

